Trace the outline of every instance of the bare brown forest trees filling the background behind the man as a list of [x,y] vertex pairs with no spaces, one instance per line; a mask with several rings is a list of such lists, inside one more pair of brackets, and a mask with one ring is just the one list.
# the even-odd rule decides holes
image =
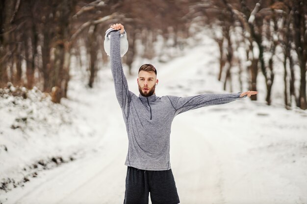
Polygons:
[[[84,80],[93,87],[97,71],[108,62],[104,32],[113,23],[124,24],[128,31],[123,62],[130,74],[136,57],[166,54],[156,53],[153,46],[161,37],[164,47],[184,48],[197,32],[191,26],[197,24],[198,29],[208,28],[219,46],[216,77],[225,90],[232,91],[237,75],[236,83],[242,87],[246,82],[257,91],[261,74],[265,101],[271,105],[274,78],[282,71],[284,107],[307,109],[304,0],[1,0],[0,88],[37,87],[59,103],[67,97],[73,56],[87,59]],[[251,99],[257,100],[256,95]]]

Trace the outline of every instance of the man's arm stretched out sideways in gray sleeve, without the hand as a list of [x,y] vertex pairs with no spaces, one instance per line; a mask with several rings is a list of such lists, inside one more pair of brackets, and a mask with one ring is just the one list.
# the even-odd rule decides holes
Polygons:
[[229,103],[240,98],[245,98],[247,95],[240,97],[241,93],[206,93],[202,95],[177,97],[167,96],[175,109],[175,114],[183,113],[189,110]]

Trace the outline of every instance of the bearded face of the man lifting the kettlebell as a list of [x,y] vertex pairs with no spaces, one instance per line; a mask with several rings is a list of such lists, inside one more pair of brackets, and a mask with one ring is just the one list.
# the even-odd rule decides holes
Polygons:
[[139,72],[137,84],[142,96],[148,97],[153,95],[155,91],[155,83],[158,83],[158,80],[156,79],[156,75],[153,71],[141,70]]

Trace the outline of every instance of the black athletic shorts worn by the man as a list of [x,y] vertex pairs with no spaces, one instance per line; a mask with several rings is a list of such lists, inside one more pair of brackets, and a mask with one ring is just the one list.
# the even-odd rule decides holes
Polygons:
[[172,170],[148,171],[128,166],[124,204],[179,204]]

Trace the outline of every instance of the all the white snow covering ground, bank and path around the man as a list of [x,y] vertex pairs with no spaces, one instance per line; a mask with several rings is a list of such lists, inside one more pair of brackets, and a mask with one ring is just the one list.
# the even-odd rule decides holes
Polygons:
[[[156,94],[225,92],[217,81],[218,55],[217,45],[204,36],[200,45],[168,63],[149,61],[158,69]],[[0,98],[0,179],[29,180],[0,190],[0,203],[123,203],[128,138],[108,67],[100,70],[93,89],[80,82],[81,69],[74,70],[68,99],[61,104],[52,104],[37,90],[26,100]],[[137,93],[136,75],[127,78]],[[261,95],[264,83],[258,86]],[[175,118],[171,163],[181,204],[307,203],[307,111],[267,106],[259,98]],[[25,117],[26,123],[16,120]],[[65,162],[29,167],[54,157]]]

